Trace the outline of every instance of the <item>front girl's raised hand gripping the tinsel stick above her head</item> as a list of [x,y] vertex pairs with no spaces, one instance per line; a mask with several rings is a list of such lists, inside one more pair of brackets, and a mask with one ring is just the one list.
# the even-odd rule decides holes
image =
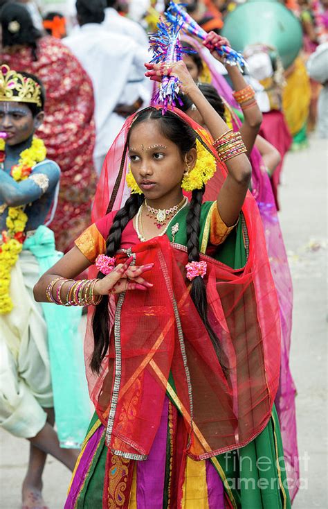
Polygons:
[[171,62],[170,64],[145,64],[147,72],[145,76],[154,81],[162,81],[163,76],[176,76],[180,82],[181,90],[184,94],[189,94],[192,89],[197,89],[194,80],[190,76],[185,62]]

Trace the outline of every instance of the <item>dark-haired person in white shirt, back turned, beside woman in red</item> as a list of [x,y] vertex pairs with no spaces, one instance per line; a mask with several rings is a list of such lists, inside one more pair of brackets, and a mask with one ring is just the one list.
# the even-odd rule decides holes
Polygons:
[[77,0],[80,28],[62,40],[80,60],[93,83],[94,161],[98,175],[125,117],[141,105],[147,105],[138,90],[130,86],[131,80],[133,83],[143,81],[145,53],[132,37],[110,33],[102,26],[105,6],[105,0]]

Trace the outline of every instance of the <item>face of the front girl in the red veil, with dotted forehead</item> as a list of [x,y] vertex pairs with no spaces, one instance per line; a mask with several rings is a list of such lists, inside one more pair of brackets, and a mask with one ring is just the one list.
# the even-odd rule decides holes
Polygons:
[[[179,147],[162,134],[159,122],[148,120],[138,124],[129,139],[131,172],[145,197],[151,200],[181,191],[187,167]],[[186,157],[190,158],[189,153]]]

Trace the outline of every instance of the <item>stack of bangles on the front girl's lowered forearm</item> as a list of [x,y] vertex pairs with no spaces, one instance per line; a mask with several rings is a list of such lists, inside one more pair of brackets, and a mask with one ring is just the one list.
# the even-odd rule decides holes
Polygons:
[[[57,286],[56,295],[54,297],[53,290],[55,284],[60,281]],[[49,302],[58,304],[58,306],[96,306],[102,300],[102,295],[94,295],[95,283],[99,279],[65,279],[64,277],[56,277],[48,284],[46,289],[46,297]],[[66,295],[62,298],[62,286],[70,283],[66,291]]]

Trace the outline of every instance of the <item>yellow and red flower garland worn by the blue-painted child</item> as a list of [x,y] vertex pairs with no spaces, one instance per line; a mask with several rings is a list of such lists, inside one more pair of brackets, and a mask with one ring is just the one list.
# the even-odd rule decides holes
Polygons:
[[[5,141],[0,139],[0,163],[3,163],[5,154]],[[33,170],[33,166],[46,158],[46,147],[42,139],[33,138],[30,148],[26,148],[19,155],[19,162],[12,166],[10,175],[19,182],[25,180]],[[2,208],[2,212],[6,207]],[[19,253],[23,249],[25,240],[24,230],[28,216],[24,206],[8,207],[6,226],[3,230],[2,243],[0,243],[0,314],[10,313],[12,300],[10,298],[10,271],[15,266]]]

